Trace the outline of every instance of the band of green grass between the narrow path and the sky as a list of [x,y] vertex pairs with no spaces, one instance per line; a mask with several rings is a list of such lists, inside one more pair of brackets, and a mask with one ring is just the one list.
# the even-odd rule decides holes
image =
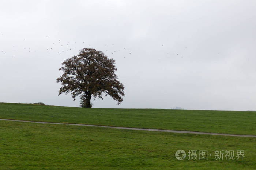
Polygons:
[[256,135],[256,112],[108,109],[0,103],[0,118]]

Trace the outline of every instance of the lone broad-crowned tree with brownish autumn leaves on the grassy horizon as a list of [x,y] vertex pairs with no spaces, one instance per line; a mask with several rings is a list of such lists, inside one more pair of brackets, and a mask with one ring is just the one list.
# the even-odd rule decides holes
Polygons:
[[117,104],[123,101],[124,86],[117,80],[115,60],[108,58],[103,52],[94,48],[83,48],[79,54],[65,60],[59,71],[63,74],[57,78],[57,83],[63,85],[61,93],[71,92],[73,100],[80,95],[80,106],[91,107],[91,97],[94,100],[102,95],[111,96]]

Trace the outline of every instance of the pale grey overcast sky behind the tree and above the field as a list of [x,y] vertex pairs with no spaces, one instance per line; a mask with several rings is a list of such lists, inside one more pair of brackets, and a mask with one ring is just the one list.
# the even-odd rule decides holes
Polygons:
[[58,69],[93,47],[116,60],[125,86],[121,105],[107,97],[93,107],[256,110],[255,9],[255,0],[0,0],[0,102],[78,107],[58,96]]

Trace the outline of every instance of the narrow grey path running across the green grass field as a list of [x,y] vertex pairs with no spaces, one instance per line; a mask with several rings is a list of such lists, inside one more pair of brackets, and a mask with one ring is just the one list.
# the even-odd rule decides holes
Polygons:
[[34,122],[34,121],[10,120],[10,119],[0,119],[0,120],[15,121],[15,122],[42,123],[42,124],[65,124],[65,125],[75,125],[75,126],[93,126],[93,127],[112,128],[112,129],[128,129],[128,130],[144,130],[144,131],[157,131],[157,132],[192,133],[192,134],[203,134],[203,135],[221,135],[221,136],[232,136],[232,137],[252,137],[252,138],[256,138],[256,135],[236,135],[236,134],[208,133],[208,132],[194,132],[194,131],[179,131],[179,130],[144,129],[144,128],[132,128],[132,127],[99,126],[99,125],[90,125],[90,124]]

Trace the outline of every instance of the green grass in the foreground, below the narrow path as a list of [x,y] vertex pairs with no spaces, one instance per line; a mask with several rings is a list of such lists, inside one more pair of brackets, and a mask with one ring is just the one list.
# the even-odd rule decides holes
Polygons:
[[[0,169],[255,169],[256,138],[0,121]],[[208,160],[178,161],[178,149]],[[243,160],[214,160],[244,150]],[[212,156],[210,156],[212,154]]]

